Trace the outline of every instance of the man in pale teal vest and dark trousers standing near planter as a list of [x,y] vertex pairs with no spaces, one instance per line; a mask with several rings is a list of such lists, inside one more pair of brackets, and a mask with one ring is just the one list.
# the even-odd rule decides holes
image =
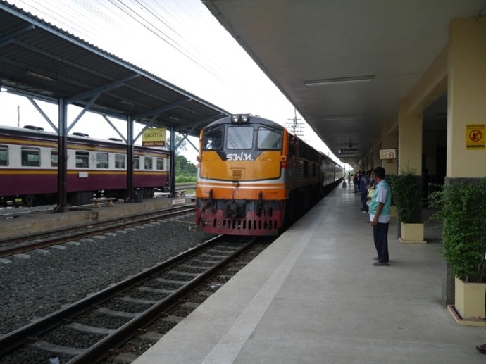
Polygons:
[[390,223],[392,194],[390,186],[385,181],[385,168],[375,168],[372,177],[376,185],[375,193],[370,202],[369,213],[373,227],[373,240],[378,253],[378,256],[375,257],[376,262],[373,265],[388,265],[388,225]]

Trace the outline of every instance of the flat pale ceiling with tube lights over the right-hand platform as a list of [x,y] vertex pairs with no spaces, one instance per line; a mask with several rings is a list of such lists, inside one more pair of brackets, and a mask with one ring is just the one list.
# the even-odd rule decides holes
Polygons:
[[[387,123],[397,130],[399,103],[447,46],[450,21],[486,15],[485,0],[203,3],[354,167]],[[423,113],[423,139],[445,143],[446,123],[444,89]]]

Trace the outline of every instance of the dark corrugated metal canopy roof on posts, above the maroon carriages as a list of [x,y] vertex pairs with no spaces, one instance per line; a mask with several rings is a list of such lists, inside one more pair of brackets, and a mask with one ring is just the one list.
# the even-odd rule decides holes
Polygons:
[[[193,94],[0,0],[0,86],[199,136],[229,115]],[[1,120],[0,120],[1,123]]]

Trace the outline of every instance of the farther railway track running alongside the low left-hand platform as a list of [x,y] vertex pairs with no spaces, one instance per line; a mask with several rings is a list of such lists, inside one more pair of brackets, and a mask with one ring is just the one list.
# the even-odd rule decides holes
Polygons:
[[194,204],[168,208],[163,211],[124,216],[112,220],[91,222],[87,225],[61,228],[53,232],[26,235],[14,239],[0,240],[0,258],[13,254],[25,253],[34,249],[42,249],[47,246],[63,244],[66,241],[92,237],[96,234],[104,234],[126,227],[141,225],[146,222],[173,218],[176,215],[194,212]]

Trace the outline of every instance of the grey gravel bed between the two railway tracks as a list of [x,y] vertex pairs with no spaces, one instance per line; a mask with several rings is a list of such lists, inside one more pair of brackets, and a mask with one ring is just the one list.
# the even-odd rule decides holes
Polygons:
[[213,237],[194,214],[0,259],[0,335]]

